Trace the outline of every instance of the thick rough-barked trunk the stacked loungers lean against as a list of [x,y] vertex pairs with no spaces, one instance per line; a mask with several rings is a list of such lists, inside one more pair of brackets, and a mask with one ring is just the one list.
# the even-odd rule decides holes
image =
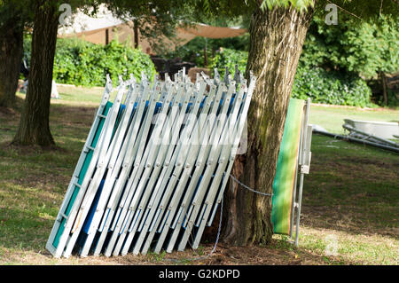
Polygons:
[[[293,77],[312,13],[311,9],[298,12],[292,7],[265,11],[257,8],[251,20],[246,77],[251,70],[257,82],[247,116],[247,152],[237,157],[232,174],[262,193],[273,190]],[[270,196],[230,182],[225,200],[224,243],[249,246],[270,241]]]

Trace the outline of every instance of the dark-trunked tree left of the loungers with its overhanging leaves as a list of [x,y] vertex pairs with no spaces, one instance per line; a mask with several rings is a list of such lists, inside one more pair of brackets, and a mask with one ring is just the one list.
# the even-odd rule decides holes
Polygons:
[[[92,15],[98,11],[99,4],[107,4],[119,16],[135,17],[140,24],[142,34],[145,34],[146,31],[148,35],[168,35],[176,20],[184,19],[184,7],[187,7],[183,0],[176,2],[181,4],[180,7],[163,0],[134,2],[128,0],[23,1],[24,4],[33,5],[32,53],[27,96],[20,125],[12,143],[14,145],[55,145],[49,126],[49,114],[59,20],[67,12],[67,10],[60,9],[62,8],[61,4],[69,4],[71,8],[69,12],[82,8],[83,12]],[[179,8],[177,9],[177,7]],[[172,11],[175,12],[172,13]],[[178,12],[180,12],[180,16],[176,17]],[[148,28],[145,23],[156,23],[157,25],[156,28]],[[14,80],[10,78],[8,82],[12,83]]]

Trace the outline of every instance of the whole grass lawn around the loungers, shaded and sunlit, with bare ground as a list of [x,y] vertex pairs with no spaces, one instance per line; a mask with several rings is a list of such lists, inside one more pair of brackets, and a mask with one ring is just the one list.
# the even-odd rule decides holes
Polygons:
[[[45,249],[74,166],[90,130],[101,88],[60,86],[51,100],[59,149],[9,145],[20,120],[0,111],[0,264],[398,264],[399,155],[324,136],[312,139],[305,177],[299,248],[275,235],[266,247],[231,248],[214,241],[196,251],[106,258],[55,259]],[[310,123],[340,133],[343,118],[397,121],[399,111],[311,106]]]

